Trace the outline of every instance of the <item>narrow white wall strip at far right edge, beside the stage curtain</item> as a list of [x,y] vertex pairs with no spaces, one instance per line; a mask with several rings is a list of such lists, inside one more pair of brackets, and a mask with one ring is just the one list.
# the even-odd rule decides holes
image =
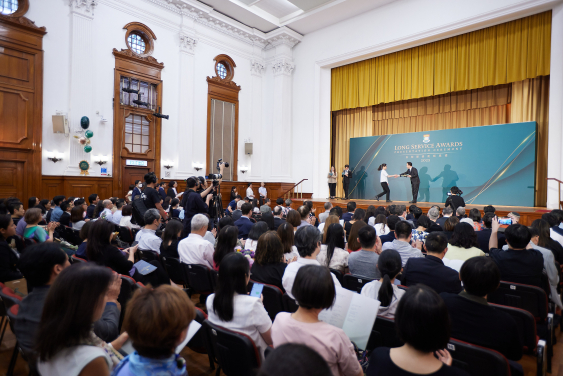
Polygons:
[[[551,73],[549,82],[549,137],[547,146],[547,177],[562,179],[561,145],[563,144],[563,4],[552,10],[551,21]],[[548,181],[547,207],[558,209],[559,183]]]

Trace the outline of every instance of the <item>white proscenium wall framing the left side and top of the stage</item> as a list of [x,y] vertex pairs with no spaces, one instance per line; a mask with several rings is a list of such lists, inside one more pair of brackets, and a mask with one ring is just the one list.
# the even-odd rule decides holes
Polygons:
[[306,192],[328,197],[330,68],[539,13],[556,3],[402,0],[307,34],[293,51],[293,128],[298,130],[293,146],[299,150],[294,180],[308,178]]

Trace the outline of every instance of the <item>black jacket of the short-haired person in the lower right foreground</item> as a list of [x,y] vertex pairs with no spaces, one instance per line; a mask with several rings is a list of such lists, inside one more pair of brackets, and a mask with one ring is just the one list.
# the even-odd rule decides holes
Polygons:
[[497,350],[510,360],[522,358],[518,326],[508,313],[465,292],[440,295],[450,312],[452,338]]

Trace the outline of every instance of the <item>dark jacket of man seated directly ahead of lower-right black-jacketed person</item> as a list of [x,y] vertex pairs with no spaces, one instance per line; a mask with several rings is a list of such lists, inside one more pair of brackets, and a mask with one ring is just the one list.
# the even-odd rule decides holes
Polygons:
[[444,265],[438,257],[430,255],[409,258],[403,269],[401,283],[406,286],[423,283],[438,294],[442,292],[459,294],[462,290],[459,273]]

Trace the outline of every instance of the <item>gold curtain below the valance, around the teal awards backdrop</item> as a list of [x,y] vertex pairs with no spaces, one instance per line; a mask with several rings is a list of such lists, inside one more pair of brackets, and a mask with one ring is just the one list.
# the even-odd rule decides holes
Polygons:
[[[536,205],[545,206],[548,96],[549,76],[337,111],[332,125],[334,165],[341,171],[349,162],[350,138],[353,137],[537,121]],[[337,196],[344,197],[340,180]]]

